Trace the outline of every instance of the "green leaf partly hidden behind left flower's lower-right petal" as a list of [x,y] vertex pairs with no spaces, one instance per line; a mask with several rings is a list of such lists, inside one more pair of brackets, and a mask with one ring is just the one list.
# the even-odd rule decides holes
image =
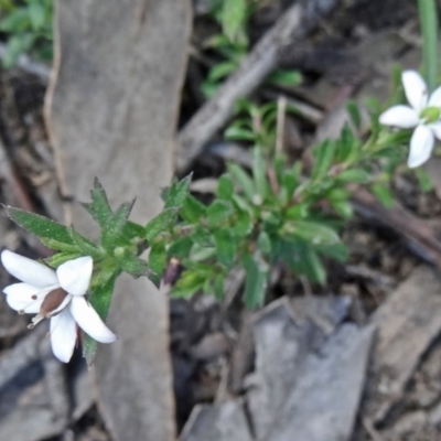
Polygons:
[[[114,293],[115,282],[119,276],[119,270],[112,272],[107,282],[103,284],[92,284],[89,302],[103,321],[106,321],[110,309],[111,295]],[[83,355],[88,366],[92,366],[97,351],[97,342],[89,335],[85,334],[83,341]]]

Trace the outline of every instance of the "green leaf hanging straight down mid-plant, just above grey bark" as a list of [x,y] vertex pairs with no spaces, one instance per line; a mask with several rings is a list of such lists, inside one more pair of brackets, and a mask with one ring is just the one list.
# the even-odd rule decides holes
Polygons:
[[261,258],[260,252],[245,254],[243,265],[246,270],[244,301],[247,308],[261,306],[268,284],[268,263]]

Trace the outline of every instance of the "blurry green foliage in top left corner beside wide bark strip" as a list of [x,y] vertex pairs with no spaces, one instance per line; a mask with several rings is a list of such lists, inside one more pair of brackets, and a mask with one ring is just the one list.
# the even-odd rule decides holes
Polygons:
[[0,3],[0,31],[8,35],[3,67],[11,67],[23,53],[52,60],[52,0]]

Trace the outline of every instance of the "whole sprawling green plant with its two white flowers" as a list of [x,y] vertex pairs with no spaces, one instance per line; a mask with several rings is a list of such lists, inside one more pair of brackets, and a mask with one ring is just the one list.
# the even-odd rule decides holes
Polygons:
[[[433,13],[424,11],[422,25],[433,25]],[[435,28],[431,32],[437,35]],[[424,72],[432,73],[437,63],[432,45],[424,51]],[[406,157],[411,168],[422,164],[440,138],[441,88],[435,89],[432,80],[427,86],[415,71],[397,72],[395,78],[387,106],[392,107],[383,111],[370,100],[370,127],[362,131],[361,111],[348,103],[351,121],[338,139],[312,148],[310,161],[304,161],[309,165],[290,162],[276,147],[275,103],[239,103],[226,136],[250,144],[252,163],[249,169],[228,163],[209,205],[189,193],[187,176],[163,191],[164,206],[158,216],[136,224],[129,220],[133,202],[114,209],[96,180],[84,208],[100,228],[97,241],[74,227],[7,207],[13,222],[55,251],[45,266],[2,252],[4,268],[23,281],[7,287],[8,303],[20,313],[36,314],[32,325],[42,319],[51,319],[51,326],[63,321],[64,337],[54,336],[52,342],[63,362],[72,356],[78,324],[87,333],[83,349],[92,363],[96,341],[110,343],[116,337],[104,321],[122,272],[148,277],[163,293],[172,288],[175,297],[204,292],[223,299],[228,275],[244,269],[243,300],[248,308],[265,302],[275,266],[325,283],[325,260],[347,257],[340,230],[353,214],[352,192],[367,186],[386,206],[391,205],[389,183],[396,170],[405,166]],[[410,107],[401,104],[402,92]],[[423,174],[418,175],[424,183]],[[183,271],[171,277],[171,272],[176,276],[176,263]]]

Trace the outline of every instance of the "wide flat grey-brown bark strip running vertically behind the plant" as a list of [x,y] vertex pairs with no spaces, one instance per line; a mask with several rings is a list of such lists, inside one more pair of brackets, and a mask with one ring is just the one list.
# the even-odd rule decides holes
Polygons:
[[[190,1],[60,0],[55,28],[46,122],[62,190],[87,201],[98,176],[111,204],[137,196],[133,218],[146,222],[172,176]],[[87,234],[88,217],[72,208]],[[114,439],[173,440],[166,298],[146,279],[121,278],[108,324],[119,340],[99,348],[95,374]]]

